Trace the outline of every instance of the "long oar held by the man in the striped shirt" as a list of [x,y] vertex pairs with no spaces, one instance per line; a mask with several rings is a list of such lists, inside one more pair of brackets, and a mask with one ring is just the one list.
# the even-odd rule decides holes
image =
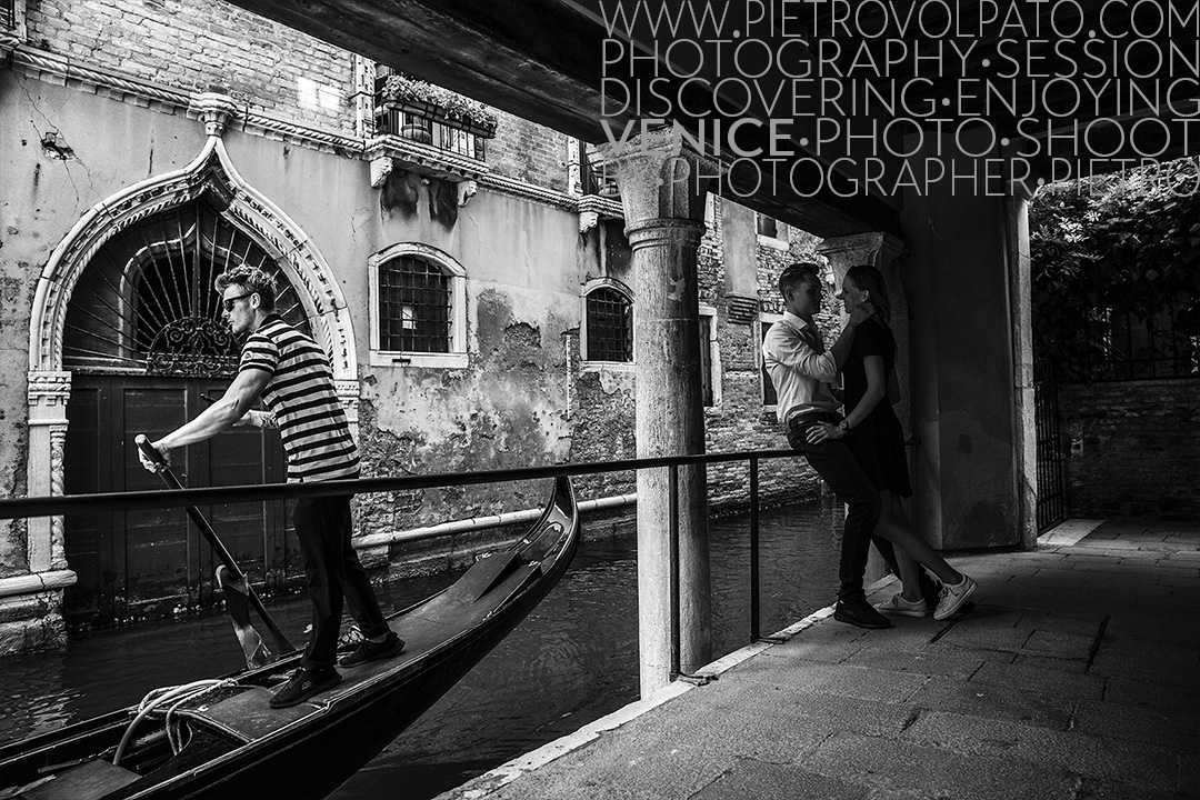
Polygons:
[[[170,471],[170,465],[163,459],[162,453],[150,445],[150,440],[145,434],[139,433],[134,438],[134,441],[138,449],[145,453],[145,457],[158,467],[158,477],[162,479],[163,483],[173,489],[184,488],[184,485],[179,482],[175,474]],[[262,667],[271,661],[271,652],[263,643],[263,637],[258,634],[258,631],[250,622],[248,606],[253,606],[254,610],[258,612],[258,615],[266,624],[266,630],[275,637],[275,644],[278,645],[280,652],[284,655],[295,652],[295,646],[288,642],[288,637],[283,634],[283,631],[271,619],[271,615],[263,606],[263,601],[254,593],[254,588],[250,585],[250,579],[238,567],[238,563],[233,560],[233,555],[226,549],[224,543],[217,536],[217,531],[212,530],[212,525],[204,518],[199,509],[196,506],[184,506],[184,509],[187,511],[187,516],[192,518],[192,522],[196,523],[196,527],[200,529],[204,539],[208,540],[209,547],[212,548],[212,552],[217,554],[217,558],[223,564],[223,566],[217,567],[217,581],[224,590],[226,607],[229,609],[234,632],[238,634],[242,652],[246,655],[246,666]]]

